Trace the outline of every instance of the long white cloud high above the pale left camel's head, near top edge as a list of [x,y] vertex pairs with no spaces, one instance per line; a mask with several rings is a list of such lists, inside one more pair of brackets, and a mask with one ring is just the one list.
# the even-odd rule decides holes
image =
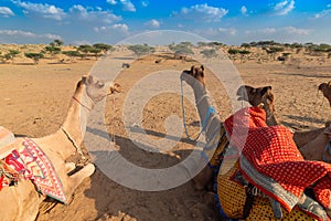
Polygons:
[[75,20],[89,23],[114,23],[120,21],[121,18],[114,14],[111,11],[94,10],[92,8],[84,8],[81,4],[75,4],[70,9],[71,17]]

